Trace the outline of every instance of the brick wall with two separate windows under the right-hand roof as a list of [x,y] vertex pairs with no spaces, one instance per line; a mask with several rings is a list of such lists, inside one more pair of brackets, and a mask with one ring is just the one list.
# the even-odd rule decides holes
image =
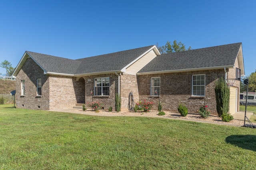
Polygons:
[[[192,96],[192,75],[196,74],[206,75],[205,97]],[[163,104],[163,110],[177,112],[178,105],[183,103],[188,107],[189,112],[198,112],[201,106],[208,105],[209,111],[212,114],[217,114],[214,92],[215,81],[217,78],[224,76],[224,69],[139,75],[139,100],[154,102],[152,109],[157,110],[158,97],[150,96],[150,78],[160,77],[160,102]]]

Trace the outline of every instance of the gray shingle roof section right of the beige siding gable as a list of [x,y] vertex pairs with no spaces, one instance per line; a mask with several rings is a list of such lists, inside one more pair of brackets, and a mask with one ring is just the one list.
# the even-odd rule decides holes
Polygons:
[[159,55],[138,73],[233,65],[241,44],[234,43]]

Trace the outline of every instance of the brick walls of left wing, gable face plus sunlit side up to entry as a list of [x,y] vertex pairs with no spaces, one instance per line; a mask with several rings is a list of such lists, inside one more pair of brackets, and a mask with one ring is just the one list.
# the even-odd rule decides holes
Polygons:
[[[36,95],[36,79],[42,78],[42,96]],[[25,80],[25,95],[21,96],[21,80]],[[46,75],[31,58],[28,58],[16,76],[16,107],[52,110],[84,103],[84,79]],[[39,108],[40,106],[40,108]]]

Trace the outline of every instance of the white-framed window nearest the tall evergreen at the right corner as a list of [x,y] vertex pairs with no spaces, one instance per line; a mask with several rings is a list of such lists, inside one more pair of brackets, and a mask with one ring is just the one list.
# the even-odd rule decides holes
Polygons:
[[205,96],[205,74],[192,75],[192,96]]

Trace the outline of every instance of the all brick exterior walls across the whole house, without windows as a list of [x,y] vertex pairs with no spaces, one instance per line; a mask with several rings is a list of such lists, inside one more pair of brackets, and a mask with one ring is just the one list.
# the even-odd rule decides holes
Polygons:
[[[236,67],[238,61],[236,60]],[[192,96],[192,75],[206,75],[206,96]],[[236,68],[227,69],[228,78],[233,78]],[[120,95],[122,98],[121,110],[128,110],[129,93],[133,93],[134,102],[151,101],[154,102],[152,109],[157,110],[158,97],[150,96],[150,78],[160,77],[160,102],[165,111],[177,111],[180,103],[184,103],[189,112],[198,112],[201,106],[208,105],[212,114],[216,112],[215,81],[219,77],[224,77],[224,69],[202,70],[190,72],[176,72],[166,74],[132,75],[122,74],[120,76]],[[26,109],[62,109],[76,106],[77,103],[92,102],[94,91],[94,78],[110,77],[110,95],[93,96],[94,102],[103,104],[104,110],[112,106],[115,110],[115,94],[118,93],[118,75],[98,74],[84,76],[76,81],[76,77],[46,75],[44,71],[31,58],[23,64],[20,72],[16,76],[16,107]],[[36,95],[36,79],[42,78],[42,96]],[[21,96],[21,80],[25,80],[25,95]],[[234,84],[240,90],[240,82]],[[40,107],[38,107],[40,106]],[[86,106],[88,107],[88,106]],[[238,96],[239,107],[239,96]],[[239,108],[238,108],[239,110]]]

